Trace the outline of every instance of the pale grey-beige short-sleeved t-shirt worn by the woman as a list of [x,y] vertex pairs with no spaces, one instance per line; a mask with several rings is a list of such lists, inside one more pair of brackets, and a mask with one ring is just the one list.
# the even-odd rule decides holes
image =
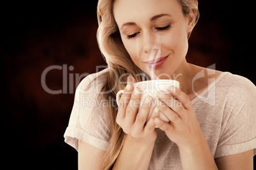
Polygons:
[[[91,74],[76,89],[75,102],[68,128],[64,134],[66,143],[78,149],[78,140],[103,150],[108,149],[110,130],[107,126],[107,105],[97,98],[105,81],[94,77],[107,72],[105,69]],[[215,82],[197,94],[192,100],[194,112],[214,158],[239,154],[254,149],[256,154],[256,87],[239,75],[229,72],[220,74]],[[149,169],[181,169],[178,146],[157,129],[155,164]]]

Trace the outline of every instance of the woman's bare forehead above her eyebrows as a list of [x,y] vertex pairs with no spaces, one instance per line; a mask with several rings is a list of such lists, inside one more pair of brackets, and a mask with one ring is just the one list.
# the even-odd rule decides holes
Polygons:
[[115,0],[113,13],[117,23],[149,20],[152,16],[167,13],[182,14],[176,0]]

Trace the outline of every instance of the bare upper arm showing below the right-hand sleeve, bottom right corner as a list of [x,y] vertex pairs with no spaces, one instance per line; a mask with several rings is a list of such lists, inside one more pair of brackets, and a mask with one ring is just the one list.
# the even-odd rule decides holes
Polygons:
[[253,169],[253,150],[215,159],[218,169]]

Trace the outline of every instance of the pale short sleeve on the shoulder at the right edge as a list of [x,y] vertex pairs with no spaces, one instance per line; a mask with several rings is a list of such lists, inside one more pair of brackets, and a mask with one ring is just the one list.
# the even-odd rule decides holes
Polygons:
[[215,158],[252,149],[256,154],[256,88],[248,79],[241,82],[227,91]]

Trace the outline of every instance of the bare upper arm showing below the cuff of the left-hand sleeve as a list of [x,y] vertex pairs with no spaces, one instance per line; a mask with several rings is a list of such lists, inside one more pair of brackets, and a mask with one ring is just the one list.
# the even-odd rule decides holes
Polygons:
[[100,169],[106,151],[78,141],[78,169]]

